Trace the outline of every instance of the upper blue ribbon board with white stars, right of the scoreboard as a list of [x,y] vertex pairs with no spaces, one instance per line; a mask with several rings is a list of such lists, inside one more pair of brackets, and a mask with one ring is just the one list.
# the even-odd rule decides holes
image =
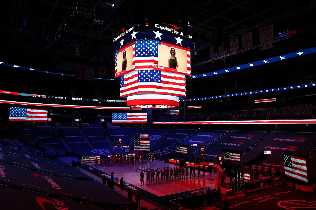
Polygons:
[[[306,55],[306,54],[311,54],[311,53],[315,53],[315,52],[316,52],[316,47],[309,48],[309,49],[300,50],[300,51],[289,53],[289,54],[276,56],[276,57],[273,57],[273,58],[267,58],[267,59],[264,59],[264,60],[250,62],[250,63],[234,66],[234,67],[227,68],[227,69],[222,69],[222,70],[219,70],[219,71],[212,71],[212,72],[209,72],[209,73],[193,75],[192,79],[193,78],[199,78],[199,77],[210,77],[210,76],[214,76],[214,75],[218,75],[218,74],[224,74],[224,73],[227,73],[227,72],[242,70],[242,69],[246,69],[246,68],[252,68],[254,66],[269,64],[269,63],[273,63],[273,62],[276,62],[276,61],[286,60],[286,59],[290,59],[290,58],[294,58],[294,57],[298,57],[298,56],[302,56],[302,55]],[[206,62],[209,62],[209,61],[206,61]],[[201,64],[202,63],[199,63],[199,64],[195,64],[193,66],[197,66],[197,65],[201,65]]]

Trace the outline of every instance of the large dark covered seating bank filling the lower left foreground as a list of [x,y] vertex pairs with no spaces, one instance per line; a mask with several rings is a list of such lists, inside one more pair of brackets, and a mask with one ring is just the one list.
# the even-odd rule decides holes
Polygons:
[[[4,141],[1,143],[0,167],[5,170],[2,176],[3,179],[0,179],[1,192],[8,192],[10,196],[12,194],[25,196],[21,201],[14,203],[23,203],[23,201],[31,197],[31,200],[28,200],[27,203],[36,204],[39,197],[50,201],[53,201],[52,197],[54,197],[57,200],[66,198],[67,200],[62,199],[62,201],[65,201],[69,205],[68,207],[90,209],[89,206],[81,204],[87,201],[84,197],[88,197],[89,202],[94,204],[91,206],[91,209],[100,209],[97,206],[101,206],[103,199],[110,200],[113,207],[119,207],[122,201],[127,202],[129,205],[135,204],[134,201],[129,200],[98,181],[93,181],[86,174],[58,159],[35,156],[31,150],[26,152],[23,149],[25,145],[17,146],[15,150],[7,147],[9,146],[8,143]],[[26,146],[25,148],[28,149],[28,147]],[[8,187],[6,188],[5,186]],[[5,191],[7,189],[10,190]],[[7,197],[3,196],[4,193],[2,193],[2,201],[9,201],[6,200]],[[10,208],[13,207],[12,205],[15,205],[12,202],[6,203],[11,203]],[[40,204],[40,202],[38,203]],[[54,206],[49,207],[47,203],[44,206],[47,207],[46,209],[55,209]],[[3,209],[9,208],[3,207]],[[34,209],[40,209],[40,206],[36,204]]]

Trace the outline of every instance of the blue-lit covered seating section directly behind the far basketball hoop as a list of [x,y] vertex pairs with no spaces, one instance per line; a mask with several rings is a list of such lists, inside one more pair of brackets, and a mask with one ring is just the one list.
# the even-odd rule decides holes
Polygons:
[[118,143],[122,139],[122,144],[127,146],[131,140],[133,133],[138,132],[138,128],[109,128],[109,137],[114,143]]

